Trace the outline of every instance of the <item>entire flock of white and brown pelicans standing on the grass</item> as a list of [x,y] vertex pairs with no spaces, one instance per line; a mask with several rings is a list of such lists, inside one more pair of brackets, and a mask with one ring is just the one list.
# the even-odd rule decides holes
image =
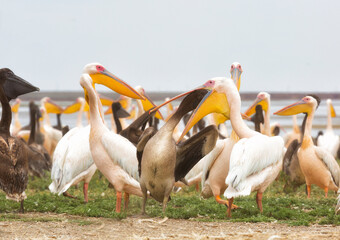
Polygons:
[[[287,175],[286,184],[306,184],[308,198],[312,184],[322,188],[325,197],[329,190],[340,193],[336,161],[340,140],[332,129],[335,110],[331,100],[327,100],[327,128],[317,139],[311,135],[320,104],[317,96],[307,95],[276,111],[275,115],[293,116],[293,131],[282,138],[276,136],[278,126],[273,130],[270,122],[269,93],[260,92],[241,113],[242,71],[239,63],[233,63],[231,78],[211,78],[156,106],[142,87],[133,88],[101,64],[91,63],[80,77],[84,98],[66,108],[47,97],[40,101],[40,107],[30,102],[30,124],[21,126],[18,96],[39,89],[11,70],[0,69],[0,188],[6,198],[21,202],[23,211],[28,176],[42,177],[47,170],[51,171],[52,193],[73,197],[67,190],[84,182],[84,201],[88,202],[89,182],[98,169],[116,191],[116,212],[121,211],[123,198],[127,209],[133,194],[143,198],[142,213],[148,198],[162,203],[165,213],[175,188],[201,182],[201,195],[214,196],[218,204],[226,205],[228,217],[238,208],[234,198],[252,192],[257,193],[256,203],[262,212],[263,193],[281,170]],[[96,84],[121,94],[121,98],[113,101],[100,96]],[[181,97],[180,105],[174,108],[171,102]],[[16,100],[11,106],[12,99]],[[137,101],[138,111],[131,107],[131,99]],[[103,105],[108,106],[105,112]],[[160,108],[165,105],[167,116],[163,117]],[[61,114],[76,112],[76,127],[63,127]],[[87,126],[83,126],[84,113]],[[295,116],[300,113],[304,114],[301,128]],[[56,114],[57,126],[51,125],[50,114]],[[110,128],[104,120],[106,114],[111,114]],[[128,117],[131,124],[125,121]],[[182,132],[181,120],[185,120]],[[230,135],[224,124],[228,120]],[[246,120],[255,123],[255,130]],[[160,121],[164,123],[159,128]],[[335,211],[340,211],[340,198]]]

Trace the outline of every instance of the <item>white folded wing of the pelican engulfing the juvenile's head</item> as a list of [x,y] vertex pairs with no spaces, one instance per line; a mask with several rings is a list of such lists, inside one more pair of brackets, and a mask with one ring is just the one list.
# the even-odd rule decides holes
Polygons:
[[280,161],[284,152],[281,137],[256,135],[239,140],[231,152],[226,184],[236,190],[244,188],[244,179]]

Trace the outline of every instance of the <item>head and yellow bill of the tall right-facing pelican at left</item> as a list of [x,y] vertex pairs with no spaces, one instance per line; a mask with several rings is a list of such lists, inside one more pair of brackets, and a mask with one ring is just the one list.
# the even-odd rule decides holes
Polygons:
[[144,99],[144,97],[136,92],[135,89],[133,89],[130,85],[125,83],[117,76],[110,73],[99,63],[87,64],[84,67],[83,73],[90,75],[92,78],[92,86],[94,86],[94,84],[101,84],[127,97],[134,99]]

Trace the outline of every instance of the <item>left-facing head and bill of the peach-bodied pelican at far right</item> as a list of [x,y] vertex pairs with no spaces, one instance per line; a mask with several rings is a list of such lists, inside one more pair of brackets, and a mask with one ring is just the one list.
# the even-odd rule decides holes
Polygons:
[[281,110],[275,112],[275,115],[280,116],[290,116],[299,113],[310,114],[317,109],[320,104],[320,98],[316,95],[309,95],[303,97],[300,101],[293,103],[289,106],[282,108]]

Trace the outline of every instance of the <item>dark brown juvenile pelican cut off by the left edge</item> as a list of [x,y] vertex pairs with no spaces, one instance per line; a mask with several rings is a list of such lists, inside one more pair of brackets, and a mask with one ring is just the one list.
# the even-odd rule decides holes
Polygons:
[[20,202],[20,212],[24,211],[25,189],[27,186],[28,158],[27,145],[19,138],[12,137],[9,129],[12,121],[9,101],[19,95],[39,91],[10,69],[0,69],[0,189],[6,198]]

